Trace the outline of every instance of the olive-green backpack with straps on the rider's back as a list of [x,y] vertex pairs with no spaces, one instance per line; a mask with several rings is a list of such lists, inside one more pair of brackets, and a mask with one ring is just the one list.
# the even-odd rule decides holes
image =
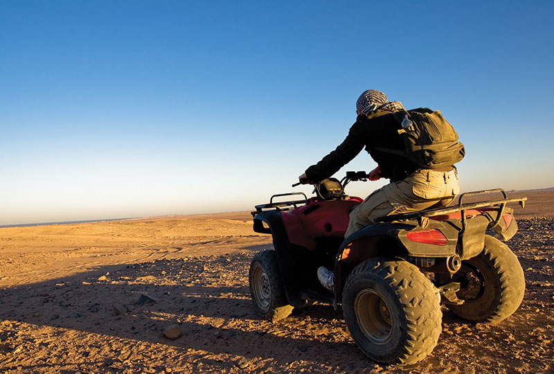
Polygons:
[[436,169],[452,166],[465,156],[463,144],[458,141],[454,127],[437,110],[429,108],[401,110],[393,114],[401,129],[405,149],[375,147],[373,149],[400,154],[421,168]]

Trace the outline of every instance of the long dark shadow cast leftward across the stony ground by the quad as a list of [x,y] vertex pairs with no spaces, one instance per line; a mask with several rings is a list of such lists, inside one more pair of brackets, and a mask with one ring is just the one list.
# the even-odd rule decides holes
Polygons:
[[[337,355],[366,360],[352,341],[334,341],[333,330],[346,330],[346,326],[341,312],[329,305],[313,305],[280,323],[260,318],[253,308],[247,273],[251,253],[264,247],[247,248],[246,254],[100,267],[7,287],[1,290],[0,321],[163,344],[183,353],[202,350],[271,359],[282,366],[310,352],[321,353],[321,364],[337,364]],[[142,301],[143,295],[153,300]],[[181,337],[172,340],[163,335],[170,325],[179,326]],[[9,338],[6,334],[10,332],[1,332],[0,339]],[[108,365],[113,361],[96,356],[83,364],[100,366],[104,359]]]

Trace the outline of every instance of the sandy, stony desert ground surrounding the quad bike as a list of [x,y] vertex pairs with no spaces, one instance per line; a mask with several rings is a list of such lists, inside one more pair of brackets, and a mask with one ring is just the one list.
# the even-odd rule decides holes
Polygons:
[[524,195],[519,310],[491,326],[443,308],[404,368],[370,362],[329,305],[260,319],[248,269],[272,244],[247,212],[0,229],[0,372],[554,373],[554,192]]

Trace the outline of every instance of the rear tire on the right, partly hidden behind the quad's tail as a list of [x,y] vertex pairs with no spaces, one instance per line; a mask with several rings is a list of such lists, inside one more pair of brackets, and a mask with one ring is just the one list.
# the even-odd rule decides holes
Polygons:
[[524,271],[517,257],[489,235],[479,255],[462,261],[454,281],[461,283],[456,294],[465,302],[448,308],[469,321],[498,323],[510,317],[524,298]]

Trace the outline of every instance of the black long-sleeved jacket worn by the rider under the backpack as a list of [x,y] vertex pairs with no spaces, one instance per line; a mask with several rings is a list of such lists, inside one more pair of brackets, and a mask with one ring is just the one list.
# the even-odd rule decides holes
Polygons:
[[405,157],[397,154],[374,150],[374,147],[404,150],[404,141],[398,134],[400,123],[393,118],[393,112],[377,110],[369,116],[360,114],[346,139],[323,157],[321,161],[306,170],[306,176],[312,181],[320,181],[333,175],[350,162],[365,147],[371,158],[381,169],[381,176],[391,181],[400,181],[420,169]]

